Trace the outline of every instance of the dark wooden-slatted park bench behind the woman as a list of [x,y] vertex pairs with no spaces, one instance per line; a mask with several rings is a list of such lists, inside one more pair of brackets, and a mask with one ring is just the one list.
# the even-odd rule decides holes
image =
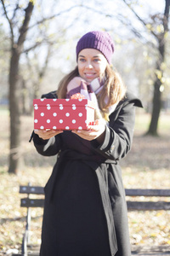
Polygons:
[[[26,194],[25,198],[20,201],[21,207],[27,208],[26,216],[26,230],[23,236],[21,254],[22,256],[36,256],[35,249],[32,249],[31,253],[28,253],[28,241],[29,241],[29,230],[31,226],[31,207],[43,207],[44,198],[31,198],[31,195],[44,195],[42,187],[31,186],[20,186],[20,193]],[[127,209],[128,211],[158,211],[165,210],[170,211],[170,201],[136,201],[136,197],[170,197],[170,189],[125,189],[127,196]],[[129,199],[133,198],[133,201]],[[134,201],[135,200],[135,201]],[[30,247],[31,248],[31,247]],[[170,255],[170,246],[160,246],[160,247],[146,247],[146,246],[132,246],[132,255]]]

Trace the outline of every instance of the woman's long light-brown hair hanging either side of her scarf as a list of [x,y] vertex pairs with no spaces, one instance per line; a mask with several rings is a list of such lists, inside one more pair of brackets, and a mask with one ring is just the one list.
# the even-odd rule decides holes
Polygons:
[[[71,79],[77,76],[79,76],[78,67],[59,82],[59,89],[57,91],[58,98],[64,99],[66,97],[67,84],[69,84]],[[120,75],[107,64],[105,68],[105,84],[97,95],[101,112],[107,113],[109,107],[120,102],[125,96],[125,93],[126,87],[122,83]],[[107,102],[105,102],[105,97],[108,98]]]

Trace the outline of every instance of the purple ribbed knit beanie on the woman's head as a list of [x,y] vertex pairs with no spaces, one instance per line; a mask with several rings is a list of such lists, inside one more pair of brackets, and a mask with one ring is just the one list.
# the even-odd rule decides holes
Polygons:
[[111,64],[114,44],[108,32],[93,31],[82,36],[77,43],[77,59],[79,52],[86,48],[98,49]]

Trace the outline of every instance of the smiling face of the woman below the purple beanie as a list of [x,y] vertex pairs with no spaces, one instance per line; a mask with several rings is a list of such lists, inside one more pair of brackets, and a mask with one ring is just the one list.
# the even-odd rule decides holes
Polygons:
[[98,49],[82,49],[78,55],[78,72],[88,83],[105,74],[107,61]]

